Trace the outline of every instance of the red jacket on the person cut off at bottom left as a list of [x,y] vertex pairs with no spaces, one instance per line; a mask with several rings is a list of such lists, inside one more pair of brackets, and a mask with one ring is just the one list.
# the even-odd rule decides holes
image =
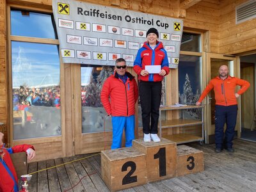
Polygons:
[[[32,145],[26,144],[17,145],[8,149],[2,147],[3,146],[0,146],[0,149],[3,150],[4,156],[3,159],[0,158],[0,192],[16,191],[14,186],[17,185],[18,178],[10,154],[17,152],[26,152],[26,150],[28,150],[29,148],[34,149],[34,147]],[[12,176],[10,175],[10,173],[12,174]]]

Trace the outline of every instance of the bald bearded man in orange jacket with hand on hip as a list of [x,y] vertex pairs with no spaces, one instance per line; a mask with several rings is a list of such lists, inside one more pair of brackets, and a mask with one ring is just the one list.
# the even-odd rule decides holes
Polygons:
[[[228,75],[227,65],[221,65],[219,69],[220,76],[211,79],[207,84],[201,97],[196,102],[199,106],[212,88],[215,93],[215,152],[220,153],[223,148],[228,152],[234,152],[232,148],[232,140],[235,134],[236,118],[237,118],[237,97],[243,94],[250,86],[248,81],[231,77]],[[236,86],[241,86],[241,89],[235,93]],[[225,131],[225,139],[223,141],[223,127],[227,124]]]

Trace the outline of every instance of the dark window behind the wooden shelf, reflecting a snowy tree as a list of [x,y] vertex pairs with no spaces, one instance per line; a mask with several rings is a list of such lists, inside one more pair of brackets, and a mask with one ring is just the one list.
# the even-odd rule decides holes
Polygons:
[[[180,54],[179,60],[179,103],[195,104],[202,90],[202,56],[201,35],[183,33],[181,40],[181,51],[188,51],[189,55]],[[194,54],[194,55],[193,55]],[[189,109],[185,111],[185,118],[202,118],[202,110]]]

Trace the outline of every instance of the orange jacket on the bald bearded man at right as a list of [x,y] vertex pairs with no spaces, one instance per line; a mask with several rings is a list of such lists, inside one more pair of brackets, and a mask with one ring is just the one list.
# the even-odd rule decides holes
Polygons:
[[226,79],[221,79],[220,77],[215,77],[211,79],[209,84],[207,84],[198,102],[202,102],[204,97],[214,88],[216,105],[220,106],[232,106],[237,104],[235,91],[236,86],[241,86],[241,89],[237,92],[239,95],[243,94],[250,86],[248,81],[243,79],[238,79],[236,77],[228,76]]

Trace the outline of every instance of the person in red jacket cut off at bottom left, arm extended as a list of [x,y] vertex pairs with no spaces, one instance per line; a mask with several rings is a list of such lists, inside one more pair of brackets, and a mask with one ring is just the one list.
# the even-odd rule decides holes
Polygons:
[[19,191],[18,178],[10,154],[26,152],[28,161],[30,161],[35,157],[35,148],[27,144],[5,148],[3,136],[4,134],[0,132],[0,192],[17,192]]

